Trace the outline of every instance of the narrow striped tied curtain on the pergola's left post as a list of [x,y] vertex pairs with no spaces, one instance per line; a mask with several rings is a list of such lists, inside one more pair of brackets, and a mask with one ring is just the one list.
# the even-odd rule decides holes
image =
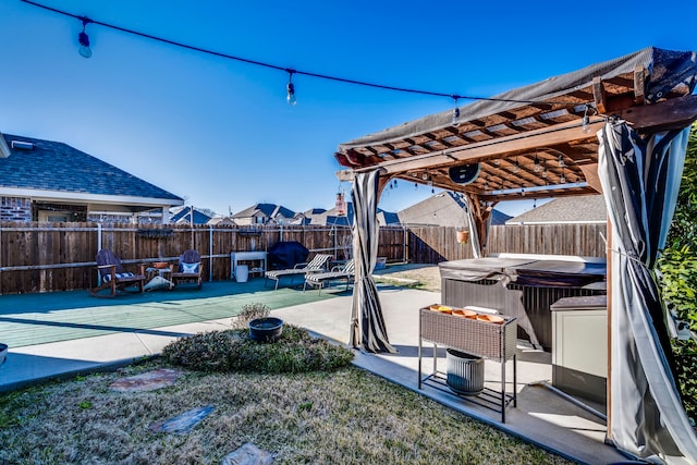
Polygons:
[[351,345],[396,353],[390,345],[372,271],[378,258],[378,171],[356,173],[353,198],[353,257],[356,266],[351,310]]

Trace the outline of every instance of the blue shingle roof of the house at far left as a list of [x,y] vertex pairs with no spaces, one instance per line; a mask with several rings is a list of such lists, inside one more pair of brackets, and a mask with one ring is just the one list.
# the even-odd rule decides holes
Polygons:
[[[3,135],[0,134],[0,137]],[[0,186],[113,196],[180,200],[134,176],[66,144],[4,134],[10,156],[0,158]],[[12,148],[12,142],[32,143],[32,149]]]

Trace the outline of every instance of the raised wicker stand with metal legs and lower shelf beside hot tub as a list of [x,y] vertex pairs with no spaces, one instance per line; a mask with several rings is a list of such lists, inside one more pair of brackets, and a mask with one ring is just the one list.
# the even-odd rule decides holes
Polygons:
[[[501,423],[505,423],[505,408],[509,404],[516,406],[516,340],[517,321],[513,317],[499,315],[503,323],[492,323],[470,318],[448,315],[430,308],[421,308],[419,313],[418,338],[418,389],[421,383],[449,392],[467,402],[475,403],[501,413]],[[433,370],[421,378],[423,342],[433,344]],[[463,395],[449,388],[445,374],[438,371],[438,345],[464,352],[477,357],[488,358],[501,364],[501,390],[485,388],[480,394]],[[513,392],[505,388],[505,366],[513,360]]]

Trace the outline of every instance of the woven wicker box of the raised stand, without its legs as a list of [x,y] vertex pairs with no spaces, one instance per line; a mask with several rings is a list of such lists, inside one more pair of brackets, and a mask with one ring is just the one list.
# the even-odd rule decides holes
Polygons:
[[503,323],[498,325],[421,308],[420,336],[472,355],[505,362],[515,354],[517,320],[501,317]]

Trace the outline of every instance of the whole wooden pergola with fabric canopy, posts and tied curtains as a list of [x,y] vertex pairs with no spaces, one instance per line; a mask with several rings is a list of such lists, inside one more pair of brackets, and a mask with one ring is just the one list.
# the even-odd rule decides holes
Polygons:
[[[632,201],[636,204],[631,207],[638,206],[639,209],[646,207],[644,203],[646,192],[627,189],[625,179],[614,180],[625,184],[613,184],[614,181],[610,178],[610,174],[616,173],[611,172],[609,167],[612,164],[616,168],[620,152],[616,147],[610,147],[614,140],[608,138],[613,137],[609,135],[608,126],[613,125],[607,123],[616,120],[616,126],[631,127],[632,132],[638,134],[640,138],[651,142],[662,137],[663,131],[676,130],[675,133],[683,134],[685,132],[680,130],[697,121],[697,96],[692,94],[696,79],[696,52],[669,51],[649,47],[615,60],[514,89],[491,99],[476,101],[461,108],[457,113],[444,111],[342,144],[334,157],[345,170],[339,171],[337,175],[342,181],[360,181],[359,191],[363,194],[358,194],[359,196],[372,195],[370,188],[366,188],[365,185],[368,184],[368,178],[375,179],[376,174],[377,181],[374,185],[377,185],[377,196],[394,179],[464,194],[469,206],[469,216],[474,217],[474,228],[476,228],[474,232],[478,236],[476,242],[480,247],[478,252],[484,256],[488,220],[499,201],[602,193],[606,201],[613,205],[617,205],[619,199],[628,199],[629,204]],[[668,136],[667,138],[670,139]],[[603,147],[600,147],[600,140],[606,140]],[[611,160],[603,158],[603,163],[608,166],[603,164],[599,172],[600,148],[604,154],[613,155],[609,157]],[[627,160],[628,158],[640,159],[640,162],[629,160],[627,166],[651,164],[652,159],[643,158],[644,151],[635,157],[631,152],[632,147],[627,150],[629,151],[623,151],[621,157],[627,157]],[[619,161],[620,164],[624,162],[623,159]],[[656,162],[656,166],[658,164],[660,161]],[[655,168],[651,167],[651,169]],[[665,166],[662,168],[667,169]],[[678,175],[677,167],[673,166],[673,174]],[[680,169],[682,170],[682,164]],[[460,176],[461,173],[464,175]],[[649,178],[647,172],[633,173],[636,178]],[[653,184],[644,187],[651,191],[651,194],[657,191],[664,192],[667,186],[655,181],[659,179],[665,181],[665,179],[655,174],[656,172],[648,180]],[[603,193],[601,184],[610,185],[613,192]],[[357,182],[354,181],[354,194],[356,187],[358,187]],[[636,201],[635,195],[641,198]],[[371,208],[377,205],[376,201],[368,204]],[[626,205],[620,205],[620,207],[626,208]],[[653,205],[650,207],[652,208]],[[657,407],[653,404],[640,405],[641,412],[646,413],[645,421],[634,418],[632,413],[623,415],[620,407],[626,400],[619,399],[616,402],[620,407],[612,406],[611,379],[613,376],[622,379],[623,382],[624,380],[633,381],[634,375],[627,375],[627,366],[632,368],[637,363],[646,363],[647,365],[641,365],[638,371],[643,368],[651,370],[650,383],[652,389],[657,390],[652,391],[652,395],[655,399],[660,397],[660,408],[669,413],[681,408],[676,406],[678,402],[675,397],[671,396],[673,391],[665,386],[665,382],[669,382],[665,380],[672,378],[664,375],[660,356],[655,356],[655,353],[647,355],[649,352],[646,351],[648,345],[665,346],[664,340],[656,340],[650,335],[650,331],[641,327],[641,321],[646,321],[646,326],[650,327],[659,323],[657,319],[662,315],[660,302],[649,298],[650,305],[647,304],[647,308],[643,308],[637,304],[639,301],[627,303],[626,297],[623,297],[625,289],[629,289],[631,293],[648,292],[646,286],[650,287],[652,281],[648,277],[650,270],[647,270],[645,262],[637,259],[639,254],[632,249],[635,244],[632,242],[633,237],[628,237],[631,234],[621,231],[623,237],[617,237],[617,247],[614,247],[614,237],[610,234],[613,230],[610,218],[613,218],[612,224],[629,223],[628,218],[616,217],[620,211],[609,208],[608,247],[612,248],[613,253],[608,256],[610,293],[608,299],[610,348],[608,411],[614,416],[611,414],[608,416],[608,437],[615,440],[611,433],[611,426],[619,424],[621,425],[619,440],[622,446],[627,448],[632,453],[669,454],[673,448],[670,440],[658,445],[651,444],[650,450],[643,450],[640,443],[647,436],[652,440],[660,436],[656,433],[657,428],[662,427],[658,425],[660,414],[655,412]],[[640,216],[643,211],[632,212]],[[370,211],[362,212],[364,223],[366,218],[369,223]],[[634,220],[636,222],[636,218]],[[656,231],[652,231],[652,234],[651,237],[657,236]],[[363,287],[370,291],[370,278],[366,273],[369,274],[370,264],[375,257],[371,258],[369,248],[362,244],[363,242],[370,245],[370,231],[365,227],[362,231],[359,227],[355,235],[358,240],[354,240],[354,254],[357,256],[360,253],[364,262],[357,268],[356,284],[363,281],[365,282]],[[362,237],[362,235],[368,237]],[[639,237],[639,241],[644,240],[645,237]],[[474,241],[473,247],[476,247]],[[633,256],[627,258],[626,254],[620,253],[623,249],[631,249]],[[641,247],[641,250],[646,250],[646,247]],[[377,253],[377,249],[375,252]],[[619,264],[616,269],[612,266],[615,259]],[[632,279],[623,274],[629,268],[634,270]],[[620,274],[616,280],[614,272]],[[638,282],[637,277],[645,280]],[[614,284],[619,291],[613,294]],[[358,341],[355,334],[357,334],[356,328],[360,326],[362,331],[368,334],[368,336],[362,335],[364,348],[367,346],[366,341],[370,343],[367,347],[370,351],[379,351],[380,347],[390,348],[377,292],[375,290],[364,292],[363,287],[360,292],[363,295],[356,296],[354,290],[352,343],[355,344],[355,341]],[[643,296],[646,295],[643,294]],[[655,296],[656,293],[651,295]],[[615,308],[616,315],[613,315],[611,302],[615,297],[619,302],[619,310]],[[649,314],[650,316],[647,316]],[[629,315],[635,319],[629,320]],[[613,325],[612,321],[619,322]],[[632,332],[627,333],[627,330]],[[615,355],[613,355],[613,338],[616,338],[620,346],[614,351]],[[636,354],[625,348],[635,344],[635,338],[641,341],[643,355],[638,362],[635,358]],[[660,350],[657,351],[660,352]],[[614,368],[613,356],[617,357]],[[644,386],[641,384],[644,379],[640,378],[636,386],[632,386],[632,389],[636,389],[636,392],[632,391],[632,395],[636,399],[643,399],[644,393],[639,391]],[[686,457],[695,460],[697,439],[694,435],[690,436],[684,431],[687,420],[684,411],[682,413],[683,415],[678,415],[680,418],[669,420],[664,417],[662,421],[669,424],[671,438],[678,444],[681,452]],[[636,424],[633,423],[635,420]],[[622,425],[628,426],[623,429]],[[665,439],[664,436],[660,438]]]

